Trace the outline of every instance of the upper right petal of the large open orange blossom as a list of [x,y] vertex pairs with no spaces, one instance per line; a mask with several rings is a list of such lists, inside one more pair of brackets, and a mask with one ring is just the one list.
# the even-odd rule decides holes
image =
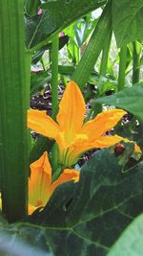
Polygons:
[[98,114],[94,119],[85,123],[81,133],[89,136],[89,141],[98,139],[106,131],[113,128],[119,120],[126,114],[122,109],[111,109]]

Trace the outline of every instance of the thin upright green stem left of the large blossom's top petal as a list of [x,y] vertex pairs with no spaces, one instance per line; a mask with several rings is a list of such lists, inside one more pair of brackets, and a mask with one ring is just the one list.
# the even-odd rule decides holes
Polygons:
[[51,40],[51,116],[55,119],[58,105],[58,35]]

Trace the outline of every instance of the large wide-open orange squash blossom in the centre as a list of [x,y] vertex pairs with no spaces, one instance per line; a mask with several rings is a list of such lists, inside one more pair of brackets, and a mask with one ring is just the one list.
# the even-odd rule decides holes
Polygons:
[[[72,166],[84,151],[94,148],[107,148],[128,139],[118,135],[105,136],[126,114],[122,109],[112,109],[98,114],[84,123],[86,104],[79,87],[70,81],[59,105],[54,122],[46,111],[28,110],[28,127],[52,138],[59,148],[59,162]],[[135,150],[139,148],[135,146]]]

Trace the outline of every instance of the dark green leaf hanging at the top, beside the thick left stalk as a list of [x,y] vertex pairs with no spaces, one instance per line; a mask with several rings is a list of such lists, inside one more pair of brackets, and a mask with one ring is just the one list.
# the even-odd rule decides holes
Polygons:
[[105,2],[105,0],[48,1],[41,6],[42,14],[25,16],[27,48],[31,51],[41,48],[53,35]]

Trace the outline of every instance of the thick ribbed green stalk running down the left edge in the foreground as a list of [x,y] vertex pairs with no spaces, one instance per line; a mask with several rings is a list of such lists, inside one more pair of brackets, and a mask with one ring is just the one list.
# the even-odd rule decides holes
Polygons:
[[0,172],[2,207],[8,221],[27,216],[31,56],[25,49],[23,1],[0,8]]

